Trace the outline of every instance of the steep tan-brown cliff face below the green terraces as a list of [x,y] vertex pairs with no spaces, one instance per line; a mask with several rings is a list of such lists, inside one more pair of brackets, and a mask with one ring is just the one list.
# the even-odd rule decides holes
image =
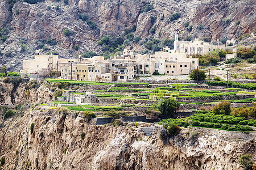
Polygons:
[[255,133],[188,128],[164,138],[162,126],[152,137],[132,128],[88,125],[75,112],[27,111],[1,120],[1,169],[200,169],[199,162],[201,169],[242,169],[240,156],[256,155]]

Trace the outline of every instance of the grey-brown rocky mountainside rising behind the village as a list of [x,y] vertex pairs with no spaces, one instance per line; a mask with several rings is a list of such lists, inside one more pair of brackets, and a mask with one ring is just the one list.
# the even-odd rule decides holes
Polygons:
[[[172,38],[176,33],[181,39],[237,39],[256,29],[254,0],[65,0],[67,5],[64,1],[27,2],[36,0],[0,0],[0,28],[9,32],[2,33],[7,39],[1,39],[0,61],[16,70],[35,49],[41,49],[40,53],[57,51],[60,57],[74,57],[87,50],[100,54],[102,46],[97,41],[101,37],[121,36],[133,25],[134,37],[141,39]],[[179,18],[170,20],[175,13]],[[184,26],[186,22],[188,27]],[[65,36],[65,29],[71,35]],[[255,37],[251,42],[255,43]],[[135,49],[140,50],[141,45]]]

